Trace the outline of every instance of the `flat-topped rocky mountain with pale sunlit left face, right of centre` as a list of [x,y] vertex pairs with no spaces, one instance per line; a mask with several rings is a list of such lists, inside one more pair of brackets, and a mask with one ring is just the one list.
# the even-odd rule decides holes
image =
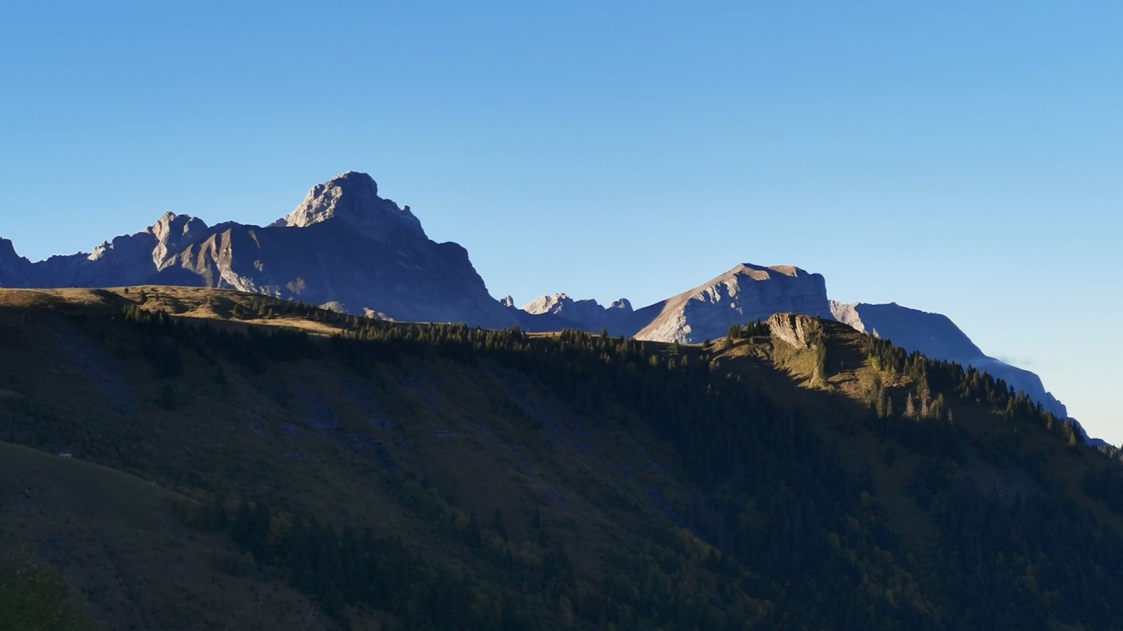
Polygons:
[[[767,320],[774,313],[833,319],[821,274],[782,265],[738,265],[712,281],[636,311],[637,339],[697,344],[724,337],[732,323]],[[615,331],[611,331],[615,333]]]

